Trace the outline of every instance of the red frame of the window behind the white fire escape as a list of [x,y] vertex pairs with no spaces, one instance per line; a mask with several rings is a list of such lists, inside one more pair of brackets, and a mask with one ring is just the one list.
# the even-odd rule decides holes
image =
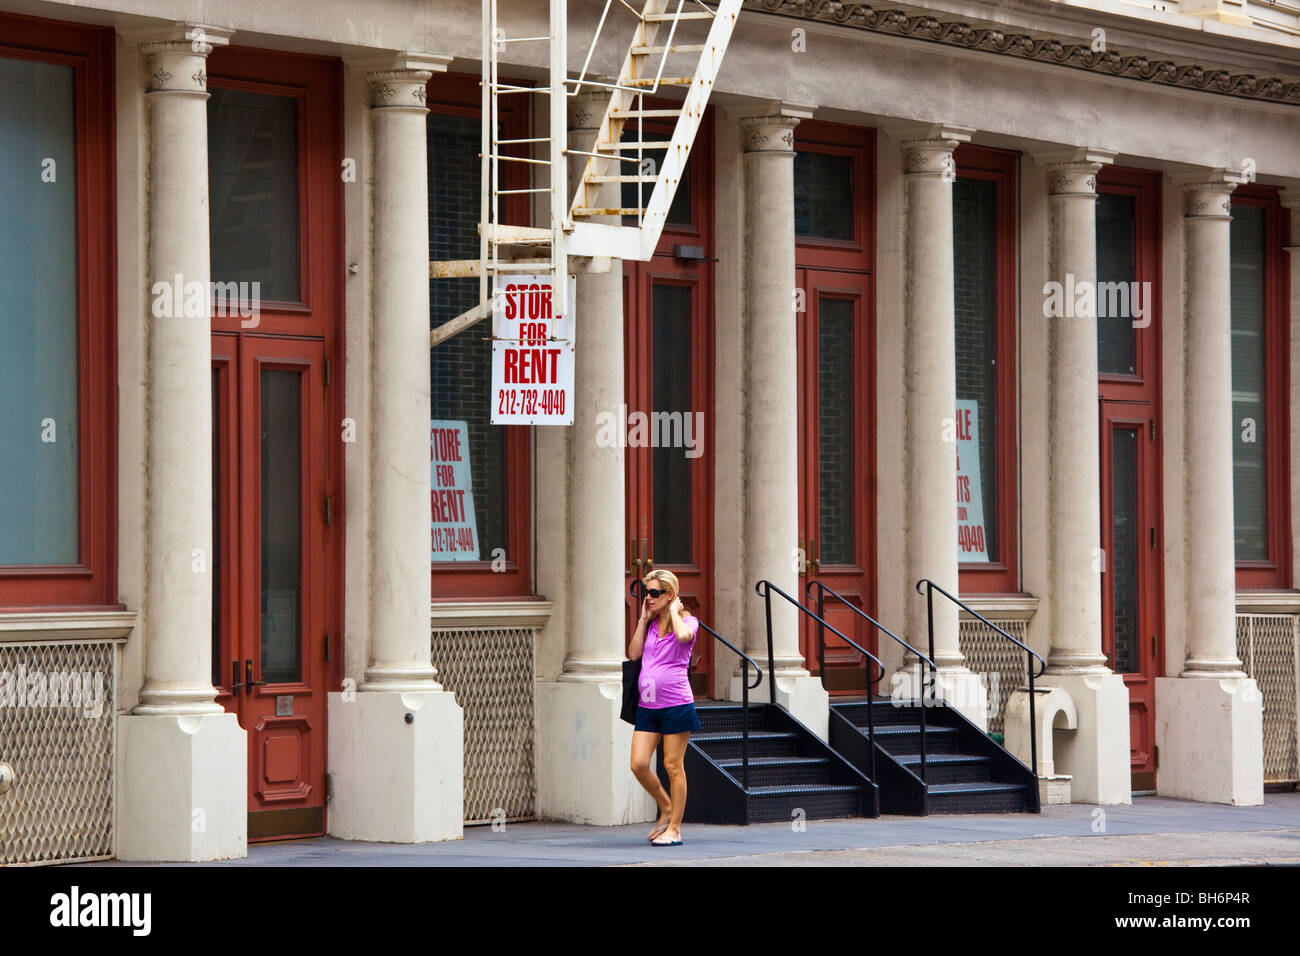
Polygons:
[[[528,109],[523,99],[521,96],[502,99],[502,131],[507,139],[523,139],[530,135]],[[478,77],[459,73],[434,75],[428,83],[425,105],[430,113],[481,117]],[[528,168],[523,163],[503,163],[502,176],[511,189],[524,189],[529,185]],[[526,195],[507,196],[502,211],[511,222],[530,221]],[[476,332],[462,334],[476,334]],[[430,562],[434,601],[533,596],[532,429],[529,425],[489,427],[506,429],[506,535],[511,542],[511,553],[506,555],[506,570],[494,572],[491,561]]]

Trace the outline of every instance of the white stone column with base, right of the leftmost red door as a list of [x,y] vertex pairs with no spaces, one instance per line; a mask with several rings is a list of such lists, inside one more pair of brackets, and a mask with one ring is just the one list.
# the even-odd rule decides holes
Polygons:
[[462,835],[464,721],[429,659],[425,83],[448,61],[389,56],[365,75],[374,235],[370,649],[360,688],[329,696],[329,829],[344,839]]

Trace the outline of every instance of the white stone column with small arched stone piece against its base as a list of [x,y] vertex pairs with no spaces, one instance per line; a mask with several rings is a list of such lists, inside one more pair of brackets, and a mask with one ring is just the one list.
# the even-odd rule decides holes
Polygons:
[[[1063,688],[1078,728],[1056,741],[1071,800],[1132,800],[1128,689],[1101,650],[1101,427],[1097,410],[1097,172],[1114,153],[1041,153],[1049,194],[1048,287],[1026,321],[1048,325],[1048,588],[1050,650],[1039,683]],[[1057,285],[1052,285],[1057,284]],[[1057,310],[1057,304],[1062,308]],[[1063,312],[1058,315],[1057,312]]]

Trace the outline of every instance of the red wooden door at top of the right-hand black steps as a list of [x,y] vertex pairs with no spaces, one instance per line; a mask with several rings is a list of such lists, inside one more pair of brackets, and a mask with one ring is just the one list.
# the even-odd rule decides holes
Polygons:
[[[875,336],[870,278],[852,272],[798,271],[800,587],[822,581],[854,607],[875,609],[871,528],[875,434],[870,369]],[[801,597],[803,596],[801,594]],[[871,653],[878,633],[844,604],[827,600],[826,620]],[[802,618],[800,650],[820,672],[818,626]],[[866,693],[862,656],[826,632],[826,684],[832,693]]]

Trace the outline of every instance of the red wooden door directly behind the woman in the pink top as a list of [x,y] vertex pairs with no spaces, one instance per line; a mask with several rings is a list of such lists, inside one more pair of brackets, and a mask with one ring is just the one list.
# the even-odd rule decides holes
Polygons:
[[[692,614],[712,619],[712,323],[705,263],[656,256],[624,265],[628,583],[672,571]],[[638,609],[628,598],[628,635]],[[698,640],[690,682],[707,696],[714,641]]]

